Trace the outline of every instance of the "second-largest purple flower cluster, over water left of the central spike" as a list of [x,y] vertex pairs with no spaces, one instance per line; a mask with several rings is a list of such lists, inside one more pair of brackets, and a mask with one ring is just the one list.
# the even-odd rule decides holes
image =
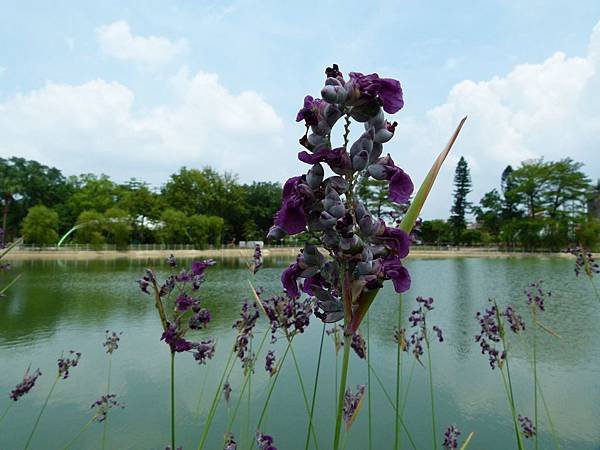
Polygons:
[[[177,267],[173,255],[170,255],[166,262],[171,268]],[[142,292],[151,294],[149,289],[154,292],[156,309],[163,326],[161,340],[169,346],[171,353],[190,352],[199,364],[204,364],[207,359],[213,357],[215,341],[209,339],[192,342],[187,340],[185,335],[189,330],[206,328],[211,320],[208,309],[204,308],[199,298],[194,295],[197,295],[196,291],[204,281],[204,271],[214,264],[212,259],[194,261],[190,270],[182,269],[170,275],[160,286],[150,269],[146,269],[144,276],[137,280]],[[177,293],[177,297],[171,300],[173,292]]]

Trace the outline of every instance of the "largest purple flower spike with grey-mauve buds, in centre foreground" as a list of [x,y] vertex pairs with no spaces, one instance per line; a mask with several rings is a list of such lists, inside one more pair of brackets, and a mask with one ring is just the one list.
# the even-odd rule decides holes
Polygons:
[[[358,72],[345,79],[335,64],[325,73],[322,98],[306,96],[296,117],[306,124],[306,134],[300,139],[305,150],[298,159],[311,167],[284,184],[282,205],[268,237],[279,240],[308,231],[318,240],[307,243],[283,273],[284,290],[298,297],[298,280],[304,279],[302,290],[318,299],[319,318],[336,322],[346,316],[351,335],[384,280],[392,280],[397,292],[410,287],[410,276],[401,262],[408,255],[409,235],[373,217],[356,200],[355,188],[369,177],[386,180],[390,199],[406,203],[414,186],[390,155],[382,156],[383,144],[393,137],[397,125],[386,120],[384,111],[393,114],[404,105],[400,83]],[[332,128],[342,117],[344,145],[332,148]],[[348,142],[351,119],[364,126],[352,144]],[[324,165],[334,175],[326,177]],[[317,245],[327,250],[330,260]],[[341,292],[353,295],[342,301]]]

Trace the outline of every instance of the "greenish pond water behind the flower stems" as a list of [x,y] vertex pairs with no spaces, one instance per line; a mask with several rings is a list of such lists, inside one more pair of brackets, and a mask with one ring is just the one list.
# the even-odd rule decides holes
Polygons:
[[[267,260],[255,283],[266,293],[280,290],[279,274],[289,261]],[[413,284],[403,296],[410,312],[417,295],[435,298],[430,324],[444,330],[445,341],[432,344],[438,446],[443,430],[455,424],[465,438],[475,432],[470,449],[516,448],[509,406],[498,370],[489,368],[474,342],[476,311],[487,299],[512,303],[527,315],[523,290],[528,283],[544,280],[552,291],[541,321],[560,337],[539,332],[538,373],[552,422],[565,450],[600,448],[600,302],[590,283],[576,278],[573,261],[565,259],[414,259],[408,263]],[[13,272],[23,277],[6,298],[0,300],[0,414],[10,403],[8,393],[22,379],[25,369],[40,367],[43,376],[35,388],[13,404],[0,423],[0,449],[23,448],[35,417],[56,374],[56,358],[64,350],[82,352],[80,365],[60,381],[42,417],[31,448],[63,448],[90,419],[90,405],[106,389],[108,358],[102,343],[105,330],[122,331],[121,345],[112,358],[111,391],[125,409],[109,415],[111,449],[164,449],[169,443],[169,353],[159,341],[160,322],[150,297],[140,293],[135,280],[144,267],[166,273],[162,260],[21,261]],[[0,275],[0,286],[7,281]],[[213,322],[202,332],[217,339],[215,358],[198,365],[191,355],[180,354],[177,373],[178,445],[196,448],[202,424],[210,408],[234,337],[232,324],[244,298],[250,296],[249,272],[243,260],[222,260],[208,269],[201,297],[211,310]],[[596,280],[598,283],[598,280]],[[389,395],[395,395],[396,344],[393,333],[399,298],[386,286],[371,308],[369,352],[374,373]],[[405,325],[406,326],[406,325]],[[257,326],[266,329],[265,322]],[[531,327],[529,327],[531,329]],[[367,334],[366,322],[361,327]],[[294,341],[304,382],[310,397],[317,363],[322,325],[311,326]],[[258,342],[260,334],[255,337]],[[533,383],[530,335],[511,338],[510,370],[518,412],[533,416]],[[277,357],[283,339],[275,344]],[[268,344],[268,339],[267,339]],[[257,345],[257,344],[255,344]],[[333,341],[326,336],[315,412],[320,449],[331,448],[336,392]],[[265,346],[263,352],[272,348]],[[341,366],[341,353],[339,355]],[[402,389],[404,420],[418,449],[431,449],[431,412],[427,370],[403,356]],[[234,433],[239,448],[248,448],[266,396],[269,378],[264,357],[251,380],[250,400],[243,399]],[[412,373],[412,378],[411,378]],[[409,378],[412,380],[409,385]],[[239,364],[230,378],[232,406],[219,405],[205,448],[223,447],[228,416],[236,404],[243,376]],[[351,354],[349,384],[367,383],[367,365]],[[394,412],[371,374],[372,448],[391,449]],[[551,424],[540,402],[540,448],[554,448]],[[350,432],[347,449],[368,449],[369,407],[363,408]],[[272,434],[280,450],[304,448],[307,416],[292,359],[288,358],[275,387],[262,429]],[[102,425],[93,423],[72,448],[100,447]],[[402,448],[412,448],[402,433]],[[526,443],[533,448],[532,442]],[[311,448],[314,448],[311,443]]]

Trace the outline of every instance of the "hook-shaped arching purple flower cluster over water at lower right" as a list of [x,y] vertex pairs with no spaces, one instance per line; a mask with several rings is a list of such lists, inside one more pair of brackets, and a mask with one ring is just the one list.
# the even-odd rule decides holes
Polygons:
[[[491,301],[491,300],[490,300]],[[502,369],[506,360],[506,349],[498,350],[494,343],[498,343],[504,337],[505,319],[513,333],[525,330],[523,318],[517,314],[512,306],[507,306],[504,311],[500,310],[495,302],[484,312],[478,311],[475,318],[479,322],[480,332],[475,335],[475,342],[479,342],[481,354],[488,355],[490,367]]]

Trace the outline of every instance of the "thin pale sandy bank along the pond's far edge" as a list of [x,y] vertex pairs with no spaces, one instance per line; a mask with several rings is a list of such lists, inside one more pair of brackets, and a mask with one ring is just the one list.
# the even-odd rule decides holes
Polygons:
[[[300,247],[264,247],[263,256],[265,257],[289,257],[295,258],[300,252]],[[32,260],[32,259],[67,259],[67,260],[92,260],[92,259],[153,259],[166,258],[174,255],[178,258],[250,258],[254,253],[250,248],[221,248],[206,250],[177,250],[177,249],[157,249],[157,250],[86,250],[86,249],[15,249],[10,254],[11,260]],[[436,248],[424,246],[419,248],[413,246],[408,255],[409,259],[446,259],[446,258],[574,258],[569,253],[554,252],[526,252],[526,251],[508,251],[499,250],[494,247],[461,247],[457,248]],[[595,254],[594,257],[600,257]]]

